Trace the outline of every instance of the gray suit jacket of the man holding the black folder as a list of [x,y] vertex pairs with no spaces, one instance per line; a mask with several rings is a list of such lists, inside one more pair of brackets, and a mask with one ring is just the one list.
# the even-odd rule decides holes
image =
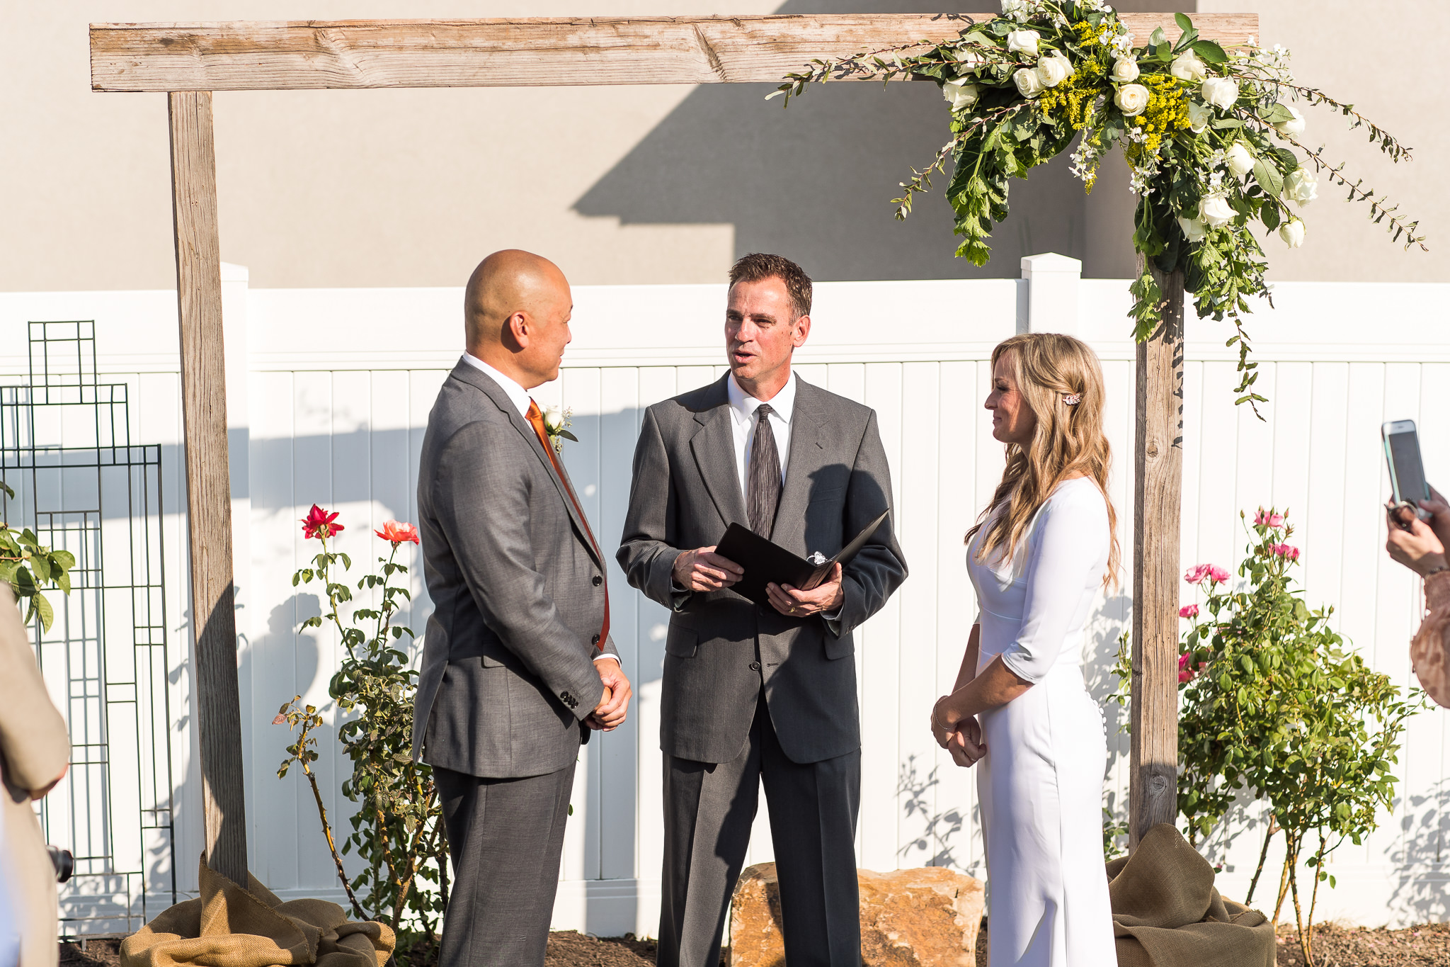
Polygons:
[[[818,763],[861,745],[851,631],[906,578],[906,563],[887,518],[845,565],[845,602],[834,622],[787,618],[731,590],[673,590],[680,551],[716,544],[729,523],[747,520],[728,378],[651,406],[635,448],[618,560],[632,586],[674,612],[660,745],[703,763],[735,758],[764,683],[786,755]],[[890,506],[890,468],[874,410],[796,378],[786,483],[770,538],[802,557],[829,557]]]

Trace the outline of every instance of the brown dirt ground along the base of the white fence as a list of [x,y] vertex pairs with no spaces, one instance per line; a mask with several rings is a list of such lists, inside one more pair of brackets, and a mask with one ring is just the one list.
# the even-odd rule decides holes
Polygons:
[[[120,967],[117,938],[93,939],[81,950],[61,944],[61,967]],[[1421,924],[1401,931],[1325,924],[1314,928],[1317,967],[1450,967],[1450,924]],[[724,961],[722,961],[724,963]],[[977,967],[986,967],[986,931],[977,941]],[[545,967],[652,967],[654,941],[550,934]],[[1304,967],[1292,926],[1279,928],[1277,967]]]

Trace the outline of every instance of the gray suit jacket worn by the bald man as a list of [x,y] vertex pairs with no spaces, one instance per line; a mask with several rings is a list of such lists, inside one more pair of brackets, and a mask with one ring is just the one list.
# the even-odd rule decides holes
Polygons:
[[603,694],[605,563],[538,435],[460,361],[428,415],[418,531],[434,613],[413,755],[486,777],[564,768]]

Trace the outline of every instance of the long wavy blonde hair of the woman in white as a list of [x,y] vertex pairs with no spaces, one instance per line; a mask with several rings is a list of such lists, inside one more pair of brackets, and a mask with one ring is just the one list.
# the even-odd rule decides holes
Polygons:
[[[1011,355],[1008,355],[1011,354]],[[1053,332],[1031,332],[1005,339],[992,351],[992,370],[998,360],[1008,357],[1016,390],[1032,415],[1037,428],[1025,445],[1006,445],[1006,468],[1002,483],[992,494],[992,503],[967,531],[966,542],[986,528],[976,560],[986,561],[995,551],[1011,560],[1022,534],[1037,509],[1069,477],[1089,477],[1102,491],[1108,505],[1108,528],[1112,545],[1103,587],[1118,580],[1118,513],[1108,496],[1108,467],[1112,448],[1102,432],[1102,365],[1098,354],[1082,339]],[[1063,397],[1079,397],[1067,404]],[[1002,507],[1000,513],[992,512]]]

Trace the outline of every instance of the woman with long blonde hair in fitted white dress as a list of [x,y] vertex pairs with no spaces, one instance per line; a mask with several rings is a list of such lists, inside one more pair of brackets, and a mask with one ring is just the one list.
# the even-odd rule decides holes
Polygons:
[[986,407],[1006,470],[967,532],[980,613],[931,728],[958,765],[982,760],[989,967],[1112,967],[1108,744],[1082,674],[1083,622],[1118,565],[1098,357],[1014,336],[992,352]]

